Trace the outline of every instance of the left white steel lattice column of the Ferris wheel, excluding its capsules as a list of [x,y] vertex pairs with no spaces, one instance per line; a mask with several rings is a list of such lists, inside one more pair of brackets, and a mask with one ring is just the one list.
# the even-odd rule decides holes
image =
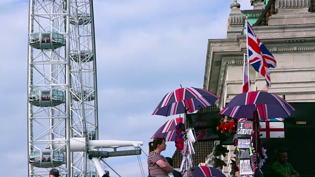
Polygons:
[[[28,156],[33,151],[44,148],[66,148],[65,156],[70,156],[70,4],[67,2],[30,0],[28,34],[58,32],[64,35],[66,45],[50,50],[28,46],[28,95],[33,89],[57,89],[65,93],[65,102],[58,106],[36,107],[28,103]],[[63,177],[70,177],[70,161],[70,158],[66,158],[65,163],[57,167]],[[29,164],[28,176],[47,177],[50,169]]]

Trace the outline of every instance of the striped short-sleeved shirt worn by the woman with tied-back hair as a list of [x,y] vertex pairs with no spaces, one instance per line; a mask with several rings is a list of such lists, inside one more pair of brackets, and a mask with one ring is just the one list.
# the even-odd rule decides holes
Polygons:
[[149,153],[147,162],[148,162],[148,168],[149,168],[150,175],[152,177],[156,177],[159,175],[168,176],[167,172],[165,172],[161,167],[158,166],[158,164],[156,164],[156,162],[158,160],[163,160],[164,162],[168,163],[166,158],[163,155],[159,155],[155,151],[152,151]]

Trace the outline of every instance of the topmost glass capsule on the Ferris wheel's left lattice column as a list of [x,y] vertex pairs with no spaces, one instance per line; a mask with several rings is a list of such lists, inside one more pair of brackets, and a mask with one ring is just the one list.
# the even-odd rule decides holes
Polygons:
[[52,50],[65,46],[65,38],[58,32],[41,31],[30,35],[29,44],[35,49]]

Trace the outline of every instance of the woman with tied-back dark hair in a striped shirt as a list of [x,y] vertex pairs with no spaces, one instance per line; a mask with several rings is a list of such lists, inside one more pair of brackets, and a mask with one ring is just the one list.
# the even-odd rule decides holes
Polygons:
[[149,143],[148,168],[149,177],[168,177],[169,172],[173,172],[166,158],[161,155],[161,151],[166,149],[165,138],[155,138]]

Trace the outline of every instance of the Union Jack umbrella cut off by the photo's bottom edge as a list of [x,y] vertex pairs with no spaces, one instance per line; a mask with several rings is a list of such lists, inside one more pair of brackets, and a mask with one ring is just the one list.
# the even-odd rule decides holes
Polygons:
[[207,166],[196,166],[193,177],[226,177],[220,170]]

